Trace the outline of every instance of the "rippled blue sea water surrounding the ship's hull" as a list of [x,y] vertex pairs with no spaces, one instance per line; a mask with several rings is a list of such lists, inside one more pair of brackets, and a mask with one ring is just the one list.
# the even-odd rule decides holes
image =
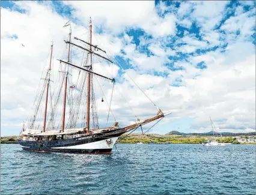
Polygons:
[[119,144],[111,155],[1,145],[1,194],[255,194],[255,145]]

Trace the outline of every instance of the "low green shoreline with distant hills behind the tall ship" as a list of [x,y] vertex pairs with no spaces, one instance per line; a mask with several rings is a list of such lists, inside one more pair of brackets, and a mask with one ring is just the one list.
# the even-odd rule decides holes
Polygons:
[[[225,132],[218,134],[218,137],[213,137],[212,131],[208,133],[180,133],[178,131],[170,131],[165,135],[159,134],[141,134],[141,133],[132,133],[127,136],[123,134],[117,140],[118,143],[148,143],[152,141],[153,143],[172,143],[172,144],[182,144],[182,143],[204,143],[207,139],[216,138],[218,142],[223,143],[250,143],[255,144],[256,133],[230,133]],[[244,140],[241,141],[241,140]],[[247,140],[252,140],[252,142],[247,142]],[[17,136],[6,136],[1,137],[1,143],[17,143]]]

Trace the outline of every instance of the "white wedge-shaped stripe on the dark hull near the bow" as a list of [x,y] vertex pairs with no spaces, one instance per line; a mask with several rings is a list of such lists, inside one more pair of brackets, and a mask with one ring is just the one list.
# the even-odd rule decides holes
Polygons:
[[[84,143],[81,145],[76,145],[76,146],[64,146],[64,147],[57,147],[57,148],[52,148],[52,149],[109,149],[113,148],[115,142],[117,142],[118,137],[113,137],[110,139],[104,139],[100,140],[97,142],[91,142],[91,143]],[[110,141],[111,143],[108,144],[106,141]]]

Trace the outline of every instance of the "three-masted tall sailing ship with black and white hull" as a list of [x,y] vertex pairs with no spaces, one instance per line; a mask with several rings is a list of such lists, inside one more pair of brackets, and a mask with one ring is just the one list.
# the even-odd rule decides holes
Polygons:
[[[69,25],[70,23],[67,23],[65,26]],[[53,44],[51,45],[49,68],[47,69],[46,76],[43,78],[42,87],[38,88],[34,103],[34,112],[32,112],[26,120],[26,125],[23,123],[22,132],[19,137],[17,137],[17,142],[22,146],[23,150],[34,152],[111,154],[118,137],[122,134],[128,132],[132,133],[139,127],[142,130],[142,125],[157,119],[160,121],[160,119],[165,116],[157,107],[157,114],[155,116],[144,120],[136,118],[136,122],[132,125],[120,126],[114,117],[114,124],[111,127],[99,127],[99,115],[96,107],[96,87],[94,85],[95,80],[105,79],[112,82],[111,100],[109,103],[107,102],[109,106],[108,118],[109,113],[112,113],[111,101],[116,81],[114,78],[94,72],[94,57],[105,62],[113,62],[111,59],[103,56],[106,54],[105,50],[100,49],[92,43],[91,20],[88,33],[89,40],[87,41],[74,37],[74,40],[79,41],[82,46],[78,43],[73,43],[71,40],[72,31],[70,26],[69,40],[65,41],[67,46],[67,59],[58,59],[60,62],[60,76],[56,82],[58,85],[53,92],[51,89]],[[81,65],[75,65],[71,61],[70,46],[82,51]],[[96,51],[98,52],[96,53]],[[75,71],[77,71],[76,83],[72,85],[72,79],[70,77],[72,77],[73,73],[75,74]],[[61,105],[62,95],[63,102]],[[45,97],[45,99],[43,97]],[[43,100],[44,103],[42,103]],[[154,106],[156,105],[154,104]],[[61,107],[60,112],[58,107]],[[67,107],[69,107],[68,113],[66,110]],[[80,122],[79,119],[81,119]],[[78,125],[80,127],[78,127]]]

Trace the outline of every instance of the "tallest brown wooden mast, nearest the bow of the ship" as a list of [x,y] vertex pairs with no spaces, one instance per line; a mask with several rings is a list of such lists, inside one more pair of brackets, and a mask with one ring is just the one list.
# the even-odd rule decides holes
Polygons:
[[[90,18],[90,67],[89,70],[93,69],[93,53],[91,52],[91,18]],[[88,73],[88,85],[87,85],[87,130],[90,128],[90,88],[91,88],[91,73]]]

